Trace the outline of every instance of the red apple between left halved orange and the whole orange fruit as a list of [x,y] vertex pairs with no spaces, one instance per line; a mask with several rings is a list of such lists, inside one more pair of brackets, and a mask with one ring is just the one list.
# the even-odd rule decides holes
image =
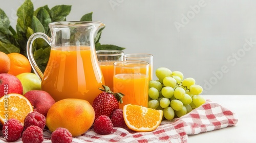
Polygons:
[[37,111],[43,115],[47,115],[50,107],[55,103],[55,100],[51,95],[43,90],[30,90],[24,94],[32,106],[34,106],[34,111]]

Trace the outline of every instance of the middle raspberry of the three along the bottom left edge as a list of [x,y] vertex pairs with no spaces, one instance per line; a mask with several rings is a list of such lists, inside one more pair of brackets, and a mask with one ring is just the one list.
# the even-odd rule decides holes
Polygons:
[[42,129],[34,125],[29,126],[22,134],[22,141],[24,143],[41,143],[44,141]]

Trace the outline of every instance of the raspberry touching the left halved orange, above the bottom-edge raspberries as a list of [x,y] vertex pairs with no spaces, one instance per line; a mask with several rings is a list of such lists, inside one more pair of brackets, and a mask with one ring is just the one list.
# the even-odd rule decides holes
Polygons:
[[31,125],[38,126],[44,130],[46,126],[46,117],[37,111],[29,113],[24,120],[24,129],[26,130]]

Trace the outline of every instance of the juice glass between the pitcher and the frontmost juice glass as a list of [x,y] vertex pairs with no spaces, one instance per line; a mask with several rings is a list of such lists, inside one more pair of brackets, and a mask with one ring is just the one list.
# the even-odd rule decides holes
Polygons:
[[123,51],[98,50],[96,51],[99,66],[104,77],[105,85],[113,91],[114,62],[123,60]]

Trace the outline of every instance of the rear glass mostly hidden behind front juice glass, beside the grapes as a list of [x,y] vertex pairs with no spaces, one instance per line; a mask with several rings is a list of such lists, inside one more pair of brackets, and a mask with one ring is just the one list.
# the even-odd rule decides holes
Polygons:
[[149,66],[149,78],[153,79],[153,55],[145,53],[133,53],[125,54],[123,56],[124,61],[144,61],[150,64]]

